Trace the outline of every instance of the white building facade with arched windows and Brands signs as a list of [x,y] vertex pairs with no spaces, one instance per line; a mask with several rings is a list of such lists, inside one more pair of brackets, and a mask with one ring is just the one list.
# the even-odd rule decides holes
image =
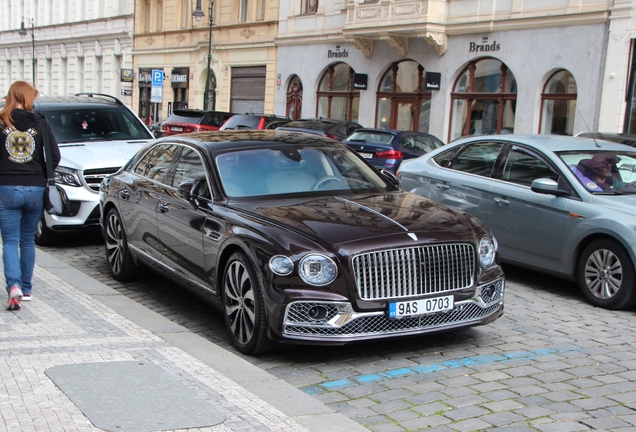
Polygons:
[[281,0],[276,112],[445,141],[596,129],[614,3]]

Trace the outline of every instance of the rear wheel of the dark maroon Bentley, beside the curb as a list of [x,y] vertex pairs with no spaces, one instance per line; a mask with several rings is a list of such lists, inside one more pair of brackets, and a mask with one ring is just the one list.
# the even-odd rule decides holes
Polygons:
[[128,248],[128,239],[121,216],[117,210],[112,208],[108,211],[105,221],[104,247],[110,274],[118,281],[133,279],[138,275],[140,269],[135,264]]

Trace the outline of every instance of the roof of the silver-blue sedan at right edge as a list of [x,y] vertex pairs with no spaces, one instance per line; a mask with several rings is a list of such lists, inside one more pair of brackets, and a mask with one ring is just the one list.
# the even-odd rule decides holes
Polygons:
[[622,151],[634,151],[633,147],[619,144],[611,141],[604,140],[591,140],[584,137],[573,137],[569,135],[517,135],[517,134],[505,134],[505,135],[481,135],[471,136],[466,138],[459,138],[450,144],[440,148],[440,150],[447,149],[450,146],[458,146],[475,141],[498,141],[508,142],[514,141],[520,144],[526,144],[531,147],[546,151],[546,152],[564,152],[572,150],[622,150]]

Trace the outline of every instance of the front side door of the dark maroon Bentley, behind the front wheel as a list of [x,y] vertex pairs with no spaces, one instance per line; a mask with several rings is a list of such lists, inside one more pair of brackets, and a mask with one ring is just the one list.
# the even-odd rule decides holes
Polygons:
[[182,183],[204,180],[205,167],[201,156],[194,148],[180,147],[179,157],[167,182],[166,193],[161,197],[157,207],[162,262],[180,280],[205,284],[203,229],[206,215],[197,205],[184,200],[178,194],[178,187]]

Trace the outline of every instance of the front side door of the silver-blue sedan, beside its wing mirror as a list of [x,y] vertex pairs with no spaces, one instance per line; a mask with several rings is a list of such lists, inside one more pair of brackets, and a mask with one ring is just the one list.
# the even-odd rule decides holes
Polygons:
[[[488,198],[488,228],[504,260],[556,270],[570,198],[533,192],[532,181],[559,181],[541,154],[512,145]],[[562,182],[563,183],[563,182]]]

